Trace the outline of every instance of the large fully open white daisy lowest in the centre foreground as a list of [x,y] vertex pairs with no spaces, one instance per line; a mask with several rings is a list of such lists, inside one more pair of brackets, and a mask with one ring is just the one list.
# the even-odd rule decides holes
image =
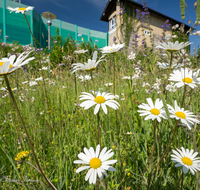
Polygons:
[[79,173],[83,170],[89,169],[85,176],[85,181],[89,179],[90,184],[95,184],[97,175],[100,179],[103,179],[103,175],[107,175],[105,170],[108,171],[117,171],[115,168],[110,166],[110,164],[114,164],[117,160],[108,160],[111,158],[114,153],[111,152],[112,149],[107,150],[107,147],[103,148],[100,152],[100,145],[97,145],[96,151],[92,147],[90,149],[84,148],[84,153],[78,154],[78,157],[81,160],[75,160],[74,164],[87,164],[86,166],[80,167],[76,170],[76,173]]

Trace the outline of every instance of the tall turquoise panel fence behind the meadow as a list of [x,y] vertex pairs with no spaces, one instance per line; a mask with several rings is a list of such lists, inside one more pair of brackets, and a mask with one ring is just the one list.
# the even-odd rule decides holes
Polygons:
[[[14,12],[10,13],[7,7],[28,7],[24,4],[19,4],[11,0],[0,0],[0,30],[1,36],[0,40],[6,42],[6,36],[8,43],[13,41],[19,42],[21,45],[33,44],[33,38],[29,32],[28,25],[23,14],[16,14]],[[43,18],[37,11],[32,10],[26,12],[27,19],[29,21],[31,30],[33,32],[34,38],[43,46],[47,46],[48,40],[48,25],[47,19]],[[51,25],[51,36],[54,36],[56,29],[59,28],[60,35],[63,40],[71,36],[75,41],[89,41],[92,39],[98,47],[107,46],[107,33],[99,32],[95,30],[90,30],[83,28],[68,22],[64,22],[58,19],[52,20]],[[82,34],[82,36],[78,36]]]

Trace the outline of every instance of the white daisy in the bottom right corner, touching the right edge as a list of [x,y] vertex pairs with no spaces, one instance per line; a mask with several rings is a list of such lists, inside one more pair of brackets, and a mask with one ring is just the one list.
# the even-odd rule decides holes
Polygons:
[[195,172],[200,171],[200,158],[197,157],[198,152],[194,153],[194,150],[188,150],[181,147],[182,151],[176,148],[176,150],[172,150],[174,154],[171,154],[171,160],[173,162],[177,162],[175,167],[183,166],[183,173],[187,173],[188,170],[192,173],[192,175],[195,174]]

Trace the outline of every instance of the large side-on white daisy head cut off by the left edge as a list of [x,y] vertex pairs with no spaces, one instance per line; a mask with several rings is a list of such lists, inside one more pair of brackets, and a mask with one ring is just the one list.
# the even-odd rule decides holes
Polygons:
[[29,61],[35,59],[35,57],[30,57],[26,59],[29,54],[30,52],[27,54],[23,52],[22,54],[19,55],[16,61],[15,61],[15,58],[16,58],[15,55],[11,55],[9,58],[2,58],[0,60],[0,75],[10,74],[14,72],[15,70],[21,68],[23,65],[28,64]]

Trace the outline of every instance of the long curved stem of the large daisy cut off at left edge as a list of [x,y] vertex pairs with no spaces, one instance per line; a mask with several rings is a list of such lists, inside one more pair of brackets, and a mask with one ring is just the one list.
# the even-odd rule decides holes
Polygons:
[[30,145],[30,147],[31,147],[31,151],[32,151],[32,153],[33,153],[33,157],[34,157],[34,160],[35,160],[35,162],[36,162],[36,164],[37,164],[37,166],[38,166],[38,169],[39,169],[40,173],[42,174],[43,178],[45,179],[45,181],[49,184],[49,186],[50,186],[52,189],[57,190],[57,189],[55,188],[55,186],[47,179],[47,177],[45,176],[45,174],[44,174],[43,171],[42,171],[42,168],[40,167],[40,164],[39,164],[39,162],[38,162],[37,156],[36,156],[35,151],[34,151],[34,148],[33,148],[33,144],[32,144],[31,139],[30,139],[30,137],[29,137],[28,131],[26,130],[26,126],[25,126],[24,121],[23,121],[23,119],[22,119],[22,117],[21,117],[21,114],[20,114],[20,112],[19,112],[19,109],[18,109],[17,103],[16,103],[16,101],[15,101],[14,95],[13,95],[12,90],[11,90],[11,88],[10,88],[10,84],[9,84],[7,75],[4,75],[4,78],[5,78],[5,81],[6,81],[6,85],[7,85],[7,87],[8,87],[8,91],[9,91],[10,97],[11,97],[11,99],[12,99],[12,101],[13,101],[13,104],[14,104],[14,107],[15,107],[15,109],[16,109],[17,116],[19,117],[19,120],[20,120],[20,122],[21,122],[21,124],[22,124],[22,127],[23,127],[23,129],[24,129],[24,131],[25,131],[25,133],[26,133],[26,137],[27,137],[27,139],[28,139],[28,142],[29,142],[29,145]]

